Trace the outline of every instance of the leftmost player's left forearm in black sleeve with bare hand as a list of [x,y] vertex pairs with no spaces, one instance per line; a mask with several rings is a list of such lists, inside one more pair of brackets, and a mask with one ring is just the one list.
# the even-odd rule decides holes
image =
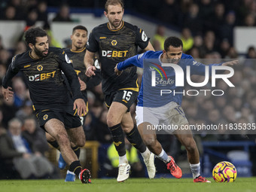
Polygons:
[[13,57],[11,65],[8,67],[5,77],[2,80],[2,94],[7,101],[9,97],[14,95],[14,92],[12,91],[11,87],[8,87],[8,85],[10,84],[11,79],[19,72],[19,69],[16,67],[15,59],[16,56]]

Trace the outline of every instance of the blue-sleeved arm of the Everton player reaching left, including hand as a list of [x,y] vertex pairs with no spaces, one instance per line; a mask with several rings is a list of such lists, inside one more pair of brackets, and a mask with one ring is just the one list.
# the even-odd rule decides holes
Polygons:
[[143,59],[145,58],[146,53],[132,56],[129,59],[125,59],[123,62],[117,63],[117,65],[114,67],[114,72],[117,75],[120,75],[121,71],[131,66],[137,66],[139,68],[143,68]]

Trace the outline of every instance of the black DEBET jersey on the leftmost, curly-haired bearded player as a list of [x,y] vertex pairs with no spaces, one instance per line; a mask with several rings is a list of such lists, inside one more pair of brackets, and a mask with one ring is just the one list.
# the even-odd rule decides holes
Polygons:
[[60,48],[49,47],[48,55],[41,59],[33,58],[31,50],[14,56],[3,78],[3,87],[7,88],[11,78],[18,72],[25,75],[35,110],[55,107],[57,110],[60,105],[68,102],[69,91],[64,84],[62,72],[72,87],[73,99],[82,98],[80,84],[72,62],[65,51]]

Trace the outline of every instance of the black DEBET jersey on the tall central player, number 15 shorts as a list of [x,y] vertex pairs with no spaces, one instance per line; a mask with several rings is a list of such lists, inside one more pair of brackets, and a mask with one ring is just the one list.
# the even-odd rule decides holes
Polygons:
[[102,69],[102,90],[109,94],[123,88],[136,88],[136,66],[130,66],[119,76],[115,75],[114,67],[118,62],[137,54],[138,46],[148,46],[149,38],[142,29],[123,22],[120,29],[112,30],[108,23],[96,26],[90,33],[87,50],[99,53]]

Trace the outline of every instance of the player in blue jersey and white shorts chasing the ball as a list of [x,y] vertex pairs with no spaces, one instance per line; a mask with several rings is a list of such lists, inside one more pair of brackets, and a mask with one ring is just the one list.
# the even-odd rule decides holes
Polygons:
[[[147,130],[145,133],[147,127],[152,127],[152,125],[161,123],[178,126],[179,129],[173,129],[171,133],[177,137],[187,150],[187,157],[194,182],[210,182],[200,175],[200,154],[191,130],[180,129],[181,126],[189,127],[187,118],[181,108],[183,95],[181,93],[184,93],[184,87],[177,87],[175,85],[177,82],[175,82],[175,71],[172,67],[161,67],[163,66],[163,63],[172,63],[181,67],[183,72],[186,72],[187,66],[190,66],[191,75],[205,75],[206,65],[196,62],[192,56],[182,53],[182,48],[183,44],[181,39],[176,37],[166,38],[163,51],[155,52],[149,50],[140,55],[130,57],[123,62],[119,62],[115,67],[115,72],[117,75],[120,75],[120,73],[129,66],[144,68],[144,80],[142,80],[142,86],[138,96],[138,105],[136,106],[136,121],[142,139],[148,149],[160,160],[166,163],[167,169],[170,170],[172,175],[176,178],[181,178],[181,169],[174,163],[173,158],[168,156],[163,150],[160,142],[157,141],[155,130]],[[147,62],[150,63],[149,66],[151,67],[146,67],[147,64],[145,63]],[[211,64],[209,65],[209,71],[211,71],[212,66],[233,66],[237,62],[238,61],[235,60],[219,64]],[[152,86],[153,83],[151,81],[152,70],[156,69],[155,66],[160,66],[160,69],[164,69],[163,72],[165,73],[164,75],[166,75],[167,80],[166,86],[169,89],[169,94],[163,94],[160,97],[157,96],[157,94],[159,95],[160,90],[164,89],[163,86]],[[155,74],[155,79],[161,78],[160,74]],[[159,81],[157,81],[157,83],[160,84]]]

